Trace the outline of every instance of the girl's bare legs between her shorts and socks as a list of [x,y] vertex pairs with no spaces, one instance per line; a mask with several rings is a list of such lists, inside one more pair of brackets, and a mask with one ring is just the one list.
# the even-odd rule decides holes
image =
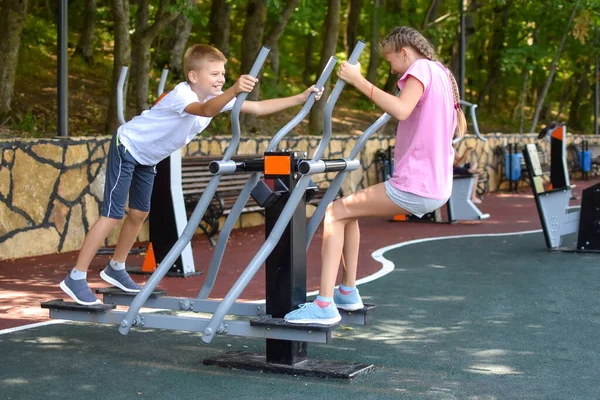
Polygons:
[[[338,267],[342,253],[346,248],[346,282],[356,279],[356,264],[358,263],[358,225],[352,226],[348,231],[348,239],[354,243],[345,246],[346,227],[349,223],[360,217],[386,217],[395,214],[407,213],[398,207],[385,193],[385,185],[368,187],[348,197],[334,201],[327,207],[323,229],[323,245],[321,248],[321,286],[319,295],[333,297],[333,288],[337,277]],[[353,245],[356,252],[352,252]],[[348,268],[350,267],[350,268]]]

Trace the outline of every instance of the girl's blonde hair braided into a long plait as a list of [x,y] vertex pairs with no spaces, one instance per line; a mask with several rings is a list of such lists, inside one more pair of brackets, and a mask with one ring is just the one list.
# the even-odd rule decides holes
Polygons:
[[[429,41],[419,31],[406,26],[395,28],[381,42],[381,48],[384,53],[397,53],[403,47],[410,46],[423,57],[431,61],[438,61],[435,57],[435,51]],[[467,131],[467,120],[465,114],[460,107],[460,93],[458,85],[452,72],[446,68],[448,76],[452,83],[452,94],[454,95],[454,109],[456,110],[456,120],[458,121],[457,134],[458,138],[462,138]]]

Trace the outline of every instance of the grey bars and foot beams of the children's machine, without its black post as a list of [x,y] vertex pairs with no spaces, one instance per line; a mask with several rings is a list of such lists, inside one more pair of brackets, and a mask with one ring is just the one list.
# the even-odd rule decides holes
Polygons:
[[[364,47],[365,44],[363,42],[359,42],[359,44],[356,46],[356,48],[350,56],[349,61],[351,63],[357,62],[358,57],[364,49]],[[250,75],[256,76],[258,74],[258,71],[264,63],[268,52],[269,50],[263,47],[250,71]],[[329,75],[333,71],[335,64],[336,59],[331,58],[330,62],[328,63],[319,80],[317,81],[317,87],[322,87],[325,84],[325,82],[329,78]],[[337,101],[344,85],[345,82],[339,80],[334,90],[332,91],[331,96],[328,99],[327,106],[325,107],[324,135],[321,139],[317,150],[315,151],[311,162],[316,162],[320,160],[329,143],[331,137],[331,114],[333,111],[333,106],[335,105],[335,102]],[[243,93],[238,96],[232,110],[231,119],[233,135],[230,145],[227,148],[223,157],[222,162],[224,164],[227,164],[227,162],[230,161],[231,156],[239,143],[239,112],[241,104],[246,97],[245,95],[246,94]],[[280,140],[306,116],[306,114],[310,110],[310,107],[314,104],[314,101],[314,94],[311,94],[300,113],[275,135],[275,137],[269,145],[270,149],[274,149],[280,142]],[[374,125],[381,126],[387,121],[387,119],[389,119],[389,116],[387,118],[384,118],[384,120],[380,118],[380,123],[376,123]],[[353,149],[351,158],[356,157],[358,152],[364,146],[364,143],[366,143],[368,136],[375,130],[376,129],[374,127],[371,127],[371,129],[365,131],[362,137],[357,141],[357,145],[355,146],[355,149]],[[349,170],[356,169],[357,166],[358,164],[356,162],[354,162],[353,160],[348,160],[347,168]],[[238,206],[240,209],[243,208],[243,206],[245,205],[245,201],[248,200],[248,197],[250,196],[250,191],[256,185],[256,181],[258,180],[260,174],[256,173],[254,175],[255,176],[253,176],[253,179],[250,179],[246,187],[244,188],[244,190],[247,189],[246,192],[243,192],[240,196],[241,199],[238,199],[238,202],[236,202],[236,206]],[[158,268],[154,271],[154,273],[152,274],[146,285],[142,288],[142,290],[137,295],[135,295],[135,297],[132,294],[127,293],[113,293],[110,291],[106,291],[103,293],[105,301],[116,305],[129,306],[128,311],[122,312],[111,310],[103,313],[82,312],[81,310],[65,309],[64,307],[60,307],[59,305],[57,305],[56,307],[49,307],[50,317],[69,319],[75,321],[118,324],[119,331],[122,334],[127,334],[132,327],[203,332],[204,335],[202,339],[207,343],[210,343],[216,334],[250,336],[267,339],[293,340],[314,343],[327,343],[331,336],[329,330],[307,330],[303,326],[299,326],[296,328],[293,325],[283,327],[253,326],[252,322],[248,320],[224,320],[225,315],[234,315],[242,317],[260,317],[265,315],[266,307],[264,303],[239,303],[236,302],[236,300],[242,293],[243,289],[247,286],[249,281],[252,279],[256,271],[264,264],[266,258],[269,256],[273,248],[277,245],[285,227],[287,226],[291,218],[291,215],[293,214],[293,210],[296,208],[296,205],[305,195],[306,188],[308,186],[308,183],[310,182],[310,175],[311,174],[306,174],[300,178],[298,184],[291,193],[286,207],[284,208],[283,212],[281,213],[281,216],[279,217],[275,226],[273,227],[271,234],[265,241],[265,244],[261,247],[254,259],[250,262],[250,264],[242,274],[242,276],[233,285],[231,290],[226,295],[225,299],[223,299],[222,301],[169,296],[157,297],[153,295],[154,290],[160,282],[160,280],[164,277],[166,272],[173,264],[174,260],[177,259],[177,257],[181,254],[182,250],[191,240],[195,229],[200,221],[200,218],[206,210],[206,199],[210,200],[218,186],[220,173],[217,173],[209,182],[206,191],[203,193],[198,204],[196,205],[196,208],[194,209],[194,212],[192,213],[192,216],[190,217],[190,220],[183,233],[181,234],[179,240],[169,251],[167,256],[164,258],[163,262],[161,262]],[[321,203],[323,203],[323,201]],[[240,214],[239,210],[236,209],[236,206],[234,206],[234,210],[232,210],[230,216],[228,217],[228,221],[233,221],[233,223],[235,222],[237,217],[239,217]],[[233,225],[233,223],[231,223],[231,225]],[[219,236],[219,243],[227,242],[230,231],[231,228],[227,228],[224,229],[224,231],[222,231],[224,233],[222,233],[222,235]],[[225,245],[221,245],[220,247],[218,247],[218,249],[219,254],[216,254],[211,262],[211,275],[214,274],[215,276],[218,271],[223,252],[225,250]],[[205,288],[208,288],[208,291],[210,291],[211,287],[212,284],[205,284]],[[212,318],[207,319],[200,317],[189,317],[184,315],[140,313],[141,307],[157,308],[161,310],[173,310],[175,312],[191,311],[201,313],[212,313],[213,316]],[[342,315],[342,322],[346,324],[364,325],[366,324],[368,319],[366,312],[345,312],[343,310],[340,310],[340,314]]]

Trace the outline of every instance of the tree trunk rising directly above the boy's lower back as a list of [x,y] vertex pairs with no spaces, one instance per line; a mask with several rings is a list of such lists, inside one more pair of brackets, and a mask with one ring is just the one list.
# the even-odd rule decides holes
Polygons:
[[[121,67],[131,63],[131,46],[129,41],[129,0],[111,0],[112,15],[115,31],[115,50],[108,115],[106,118],[106,133],[112,134],[119,127],[117,118],[117,84]],[[130,75],[130,74],[129,74]],[[123,109],[127,105],[127,91],[123,93]],[[125,114],[125,111],[123,111]]]

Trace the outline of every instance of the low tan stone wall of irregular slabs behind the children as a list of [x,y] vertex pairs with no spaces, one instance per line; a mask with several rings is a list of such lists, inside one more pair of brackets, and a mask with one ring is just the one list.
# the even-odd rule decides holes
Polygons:
[[[511,142],[533,143],[536,135],[487,135],[481,142],[467,137],[459,153],[467,147],[476,149],[480,169],[485,172],[485,190],[494,191],[505,183],[499,179],[500,160],[494,150]],[[586,136],[594,145],[600,138]],[[242,139],[240,154],[260,154],[270,138]],[[580,143],[580,136],[570,137]],[[373,136],[361,153],[362,169],[348,175],[343,193],[353,193],[381,179],[378,176],[377,150],[393,145],[388,136]],[[182,150],[184,156],[222,154],[229,137],[197,138]],[[308,152],[312,155],[318,138],[290,137],[280,149]],[[356,143],[355,136],[332,138],[324,158],[348,156]],[[57,139],[11,139],[0,141],[0,260],[78,250],[85,234],[98,218],[104,189],[105,163],[110,137]],[[522,146],[521,146],[522,147]],[[544,147],[547,151],[547,146]],[[315,181],[325,188],[334,173],[319,175]],[[262,223],[257,214],[244,216],[238,226]],[[105,245],[114,245],[118,229],[113,230]],[[140,241],[148,240],[147,224]]]

